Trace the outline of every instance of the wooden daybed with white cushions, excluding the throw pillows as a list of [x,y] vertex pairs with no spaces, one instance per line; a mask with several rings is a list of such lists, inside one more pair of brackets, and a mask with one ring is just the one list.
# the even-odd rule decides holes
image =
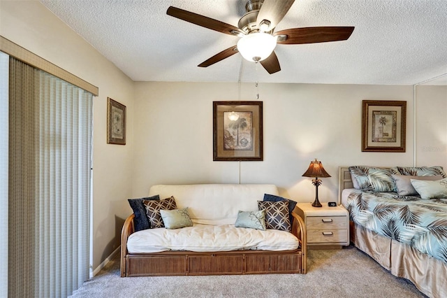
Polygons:
[[265,196],[284,201],[277,195],[275,185],[153,185],[149,197],[175,198],[192,226],[134,232],[130,215],[122,229],[121,276],[305,274],[306,229],[298,215],[288,214],[291,232],[235,227],[239,211],[258,211]]

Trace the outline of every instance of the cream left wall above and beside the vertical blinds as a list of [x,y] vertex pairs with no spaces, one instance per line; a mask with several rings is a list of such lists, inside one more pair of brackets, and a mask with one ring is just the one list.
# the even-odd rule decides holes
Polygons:
[[[0,34],[99,87],[94,98],[93,269],[119,246],[129,215],[133,82],[38,1],[0,1]],[[106,143],[107,97],[127,108],[126,146]]]

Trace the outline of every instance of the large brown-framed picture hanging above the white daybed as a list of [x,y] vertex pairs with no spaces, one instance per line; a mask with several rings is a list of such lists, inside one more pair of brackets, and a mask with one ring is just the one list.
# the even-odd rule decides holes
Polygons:
[[213,160],[263,160],[263,102],[213,101]]

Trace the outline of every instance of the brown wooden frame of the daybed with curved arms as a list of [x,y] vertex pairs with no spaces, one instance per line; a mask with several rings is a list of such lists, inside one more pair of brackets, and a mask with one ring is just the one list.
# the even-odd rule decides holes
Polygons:
[[121,276],[183,276],[223,274],[305,274],[307,238],[305,223],[292,213],[292,233],[300,241],[296,250],[236,250],[215,253],[166,251],[129,253],[127,239],[133,233],[131,214],[121,233]]

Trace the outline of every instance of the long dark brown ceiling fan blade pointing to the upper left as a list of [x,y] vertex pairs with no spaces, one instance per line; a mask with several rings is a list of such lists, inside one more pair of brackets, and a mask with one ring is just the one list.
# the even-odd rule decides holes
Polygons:
[[218,32],[222,32],[225,34],[235,35],[238,36],[240,34],[244,35],[244,31],[241,29],[226,24],[224,22],[214,20],[210,17],[205,17],[204,15],[198,15],[197,13],[191,13],[188,10],[183,10],[181,8],[176,8],[173,6],[169,6],[168,10],[166,11],[167,15],[177,17],[177,19],[184,20],[186,22],[190,22],[196,25],[199,25],[201,27],[205,27],[208,29],[212,29]]

